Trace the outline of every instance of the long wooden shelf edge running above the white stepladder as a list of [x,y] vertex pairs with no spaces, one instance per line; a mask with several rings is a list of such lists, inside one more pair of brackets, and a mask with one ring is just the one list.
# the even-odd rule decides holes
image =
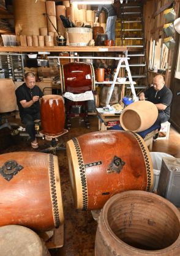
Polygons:
[[114,46],[114,47],[88,47],[88,46],[54,46],[54,47],[0,47],[0,51],[5,52],[37,52],[37,51],[75,51],[75,52],[119,52],[126,51],[127,47]]

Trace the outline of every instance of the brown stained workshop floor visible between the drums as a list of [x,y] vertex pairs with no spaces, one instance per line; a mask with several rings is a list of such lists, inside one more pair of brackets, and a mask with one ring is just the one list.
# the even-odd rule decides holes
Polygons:
[[[18,122],[18,120],[16,120]],[[63,135],[64,144],[72,137],[98,130],[96,116],[90,116],[90,129],[86,129],[84,122],[74,118],[72,129]],[[170,130],[169,140],[157,140],[152,151],[167,152],[175,157],[180,157],[180,134],[173,128]],[[11,136],[10,130],[0,130],[0,154],[13,151],[40,151],[48,146],[48,141],[39,140],[39,149],[32,149],[26,140],[18,135]],[[62,200],[64,204],[64,246],[60,249],[51,249],[51,256],[94,256],[94,241],[97,222],[93,219],[91,211],[81,211],[73,206],[72,192],[68,173],[66,151],[57,152],[59,171],[61,175]]]

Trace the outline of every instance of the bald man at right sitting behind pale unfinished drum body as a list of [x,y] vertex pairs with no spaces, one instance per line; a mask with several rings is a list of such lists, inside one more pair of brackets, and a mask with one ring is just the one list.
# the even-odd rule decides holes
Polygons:
[[140,100],[149,100],[154,103],[158,109],[158,117],[155,124],[162,124],[170,118],[170,107],[173,94],[165,86],[162,75],[156,75],[153,79],[153,86],[139,95]]

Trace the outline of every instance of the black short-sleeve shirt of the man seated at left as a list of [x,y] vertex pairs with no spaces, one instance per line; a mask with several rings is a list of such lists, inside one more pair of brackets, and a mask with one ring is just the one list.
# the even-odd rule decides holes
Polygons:
[[34,102],[34,104],[32,104],[32,106],[29,108],[23,108],[20,104],[21,100],[26,100],[26,102],[29,102],[30,100],[32,100],[33,96],[39,96],[41,98],[43,96],[43,93],[40,90],[39,86],[35,85],[34,88],[30,89],[28,88],[28,86],[26,86],[26,83],[23,83],[23,85],[16,89],[15,94],[17,96],[17,104],[20,111],[21,119],[26,114],[34,115],[40,111],[39,101]]

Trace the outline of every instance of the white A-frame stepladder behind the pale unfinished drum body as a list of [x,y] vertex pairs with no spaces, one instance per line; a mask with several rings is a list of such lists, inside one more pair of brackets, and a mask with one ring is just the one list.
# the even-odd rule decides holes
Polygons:
[[[117,69],[116,69],[116,73],[114,74],[114,80],[113,80],[113,83],[111,84],[111,88],[110,88],[110,91],[108,92],[108,96],[107,96],[107,101],[106,101],[106,105],[109,105],[110,104],[110,99],[111,99],[111,96],[113,94],[113,89],[114,89],[114,85],[116,84],[116,80],[117,80],[117,77],[118,77],[118,73],[119,73],[119,70],[121,67],[125,67],[126,70],[127,70],[127,76],[129,78],[129,83],[130,83],[130,89],[132,91],[132,96],[133,98],[135,98],[137,95],[136,95],[136,92],[135,92],[135,88],[133,86],[134,82],[132,80],[132,75],[131,75],[131,72],[130,72],[130,68],[129,68],[129,62],[128,62],[128,59],[129,58],[115,58],[115,59],[119,59],[119,62],[118,62],[118,66],[117,66]],[[125,65],[122,65],[122,63],[125,62]]]

